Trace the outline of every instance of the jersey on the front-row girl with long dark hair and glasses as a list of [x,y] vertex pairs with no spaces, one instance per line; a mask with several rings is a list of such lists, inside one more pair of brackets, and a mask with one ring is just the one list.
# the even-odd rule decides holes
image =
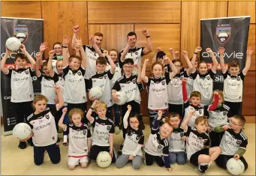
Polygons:
[[[122,148],[122,154],[131,155],[138,145],[144,144],[144,133],[143,130],[134,130],[131,128],[130,135],[128,133],[125,134],[125,142]],[[137,155],[142,156],[142,151],[137,153]]]

